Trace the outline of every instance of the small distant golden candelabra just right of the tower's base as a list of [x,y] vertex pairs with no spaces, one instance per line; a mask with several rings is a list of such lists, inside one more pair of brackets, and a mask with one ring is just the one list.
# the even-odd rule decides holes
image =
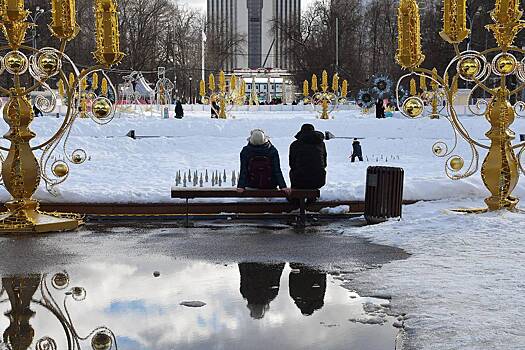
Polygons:
[[[312,92],[311,95],[310,90]],[[343,80],[343,83],[339,85],[339,76],[334,74],[330,89],[328,73],[325,70],[321,77],[321,89],[319,90],[317,84],[317,75],[313,74],[311,86],[309,86],[308,80],[305,80],[303,83],[303,95],[304,103],[311,104],[314,110],[320,114],[321,119],[330,119],[330,114],[337,108],[337,105],[346,102],[348,81]],[[321,106],[320,111],[316,109],[317,106]]]

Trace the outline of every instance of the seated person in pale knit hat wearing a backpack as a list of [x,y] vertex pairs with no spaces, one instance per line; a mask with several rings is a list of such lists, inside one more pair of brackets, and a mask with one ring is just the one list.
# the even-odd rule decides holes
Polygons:
[[279,151],[260,129],[251,131],[248,145],[241,151],[241,171],[237,189],[242,192],[247,187],[257,189],[279,187],[289,192],[281,171]]

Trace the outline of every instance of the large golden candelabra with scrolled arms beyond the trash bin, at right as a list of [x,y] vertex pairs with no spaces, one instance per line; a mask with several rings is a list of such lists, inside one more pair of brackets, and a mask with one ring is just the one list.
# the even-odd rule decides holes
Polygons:
[[[410,79],[412,92],[416,84],[415,76],[424,77],[421,79],[430,81],[436,90],[441,90],[446,102],[446,113],[440,115],[453,126],[455,141],[450,148],[445,142],[439,141],[434,144],[433,152],[436,156],[447,159],[446,174],[454,180],[472,176],[479,170],[479,149],[487,151],[481,165],[481,178],[491,193],[485,199],[487,208],[466,211],[514,210],[519,200],[512,196],[512,192],[518,183],[519,172],[525,172],[522,164],[525,142],[513,144],[515,133],[510,126],[525,104],[518,101],[513,105],[509,97],[525,88],[525,50],[513,45],[516,36],[525,27],[523,13],[517,0],[496,0],[496,6],[490,13],[494,23],[486,28],[492,32],[498,46],[482,52],[460,51],[461,42],[469,35],[466,8],[466,0],[444,0],[443,30],[440,34],[454,46],[456,54],[440,77],[436,71],[419,67],[425,56],[421,51],[420,17],[416,0],[400,1],[396,60],[403,68],[409,69],[410,73],[401,77],[398,82],[398,102],[402,83]],[[509,84],[510,76],[515,76],[518,81],[514,89]],[[449,77],[453,77],[452,82]],[[491,96],[489,100],[478,100],[476,111],[471,108],[470,103],[468,106],[471,113],[485,117],[490,123],[490,130],[485,134],[490,144],[472,138],[458,117],[453,102],[460,79],[474,85],[470,89],[469,100],[477,91],[485,91]],[[402,112],[410,118],[423,116],[424,100],[417,94],[411,95],[403,103]],[[470,146],[472,159],[468,164],[463,157],[454,154],[458,136]]]

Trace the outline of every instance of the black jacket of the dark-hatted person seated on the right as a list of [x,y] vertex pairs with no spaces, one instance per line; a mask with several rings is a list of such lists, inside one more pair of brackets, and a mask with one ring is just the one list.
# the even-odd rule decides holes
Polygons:
[[292,188],[318,189],[326,183],[326,147],[324,134],[301,131],[290,145],[290,181]]

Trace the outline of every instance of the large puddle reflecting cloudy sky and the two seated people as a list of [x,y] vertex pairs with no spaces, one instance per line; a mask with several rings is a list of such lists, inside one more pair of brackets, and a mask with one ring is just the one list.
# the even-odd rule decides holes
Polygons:
[[2,276],[0,349],[383,350],[397,335],[388,301],[361,298],[303,264],[170,259],[64,268]]

